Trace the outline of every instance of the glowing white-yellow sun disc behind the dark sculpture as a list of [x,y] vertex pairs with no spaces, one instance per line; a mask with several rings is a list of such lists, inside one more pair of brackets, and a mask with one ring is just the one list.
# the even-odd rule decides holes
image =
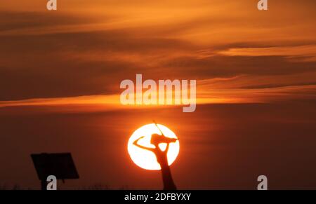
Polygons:
[[[138,165],[140,168],[144,168],[146,170],[160,170],[161,168],[159,163],[157,162],[155,154],[152,151],[148,151],[147,149],[136,146],[134,144],[136,140],[138,140],[138,144],[143,147],[155,148],[154,144],[151,143],[152,134],[162,135],[163,133],[164,136],[166,136],[166,139],[176,139],[174,140],[176,142],[169,143],[169,149],[166,154],[168,158],[168,164],[171,165],[176,160],[179,154],[180,144],[176,134],[174,134],[174,132],[172,132],[164,125],[157,124],[157,126],[156,124],[152,123],[148,125],[143,125],[142,127],[138,128],[129,138],[129,143],[127,145],[127,150],[129,151],[129,155],[131,156],[132,161],[136,163],[136,165]],[[162,131],[162,133],[159,129]],[[166,143],[159,143],[159,148],[162,151],[166,150],[166,146]]]

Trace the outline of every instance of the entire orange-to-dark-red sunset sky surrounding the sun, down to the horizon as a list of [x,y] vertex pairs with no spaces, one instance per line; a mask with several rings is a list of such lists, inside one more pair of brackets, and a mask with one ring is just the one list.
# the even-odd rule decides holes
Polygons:
[[[82,175],[73,186],[159,188],[126,152],[133,130],[156,119],[180,138],[182,189],[251,189],[264,171],[276,189],[315,188],[316,1],[257,3],[58,0],[47,11],[1,0],[0,185],[37,188],[29,154],[71,151]],[[136,74],[197,80],[197,111],[124,107],[119,84]]]

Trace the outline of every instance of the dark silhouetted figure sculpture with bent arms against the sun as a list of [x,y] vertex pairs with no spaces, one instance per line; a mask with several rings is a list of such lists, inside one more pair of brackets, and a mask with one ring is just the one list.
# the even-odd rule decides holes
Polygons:
[[[154,155],[157,158],[157,162],[160,165],[160,168],[162,168],[162,181],[164,182],[164,190],[176,190],[176,184],[174,184],[173,182],[171,170],[168,164],[167,153],[169,150],[169,144],[172,142],[176,142],[178,139],[165,137],[164,135],[152,134],[152,137],[150,139],[150,143],[154,144],[154,148],[152,148],[144,147],[138,144],[138,140],[142,139],[143,137],[140,137],[137,140],[135,140],[133,144],[141,149],[146,149],[154,153]],[[166,149],[164,151],[162,151],[162,149],[160,149],[158,146],[161,143],[166,143]]]

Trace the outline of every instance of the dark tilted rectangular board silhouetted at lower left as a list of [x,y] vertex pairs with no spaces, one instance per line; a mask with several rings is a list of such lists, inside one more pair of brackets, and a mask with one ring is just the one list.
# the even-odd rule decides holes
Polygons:
[[79,179],[77,169],[70,153],[31,154],[37,176],[46,182],[49,175],[57,179]]

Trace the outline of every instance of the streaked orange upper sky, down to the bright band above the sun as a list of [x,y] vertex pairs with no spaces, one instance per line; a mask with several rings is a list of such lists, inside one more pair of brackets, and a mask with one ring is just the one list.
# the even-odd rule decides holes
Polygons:
[[0,107],[119,105],[120,81],[197,79],[198,103],[315,98],[315,1],[8,1]]

